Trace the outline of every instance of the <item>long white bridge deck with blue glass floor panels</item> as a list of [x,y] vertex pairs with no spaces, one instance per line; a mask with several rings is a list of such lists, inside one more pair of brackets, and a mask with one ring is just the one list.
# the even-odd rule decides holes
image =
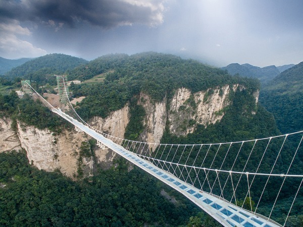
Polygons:
[[201,209],[210,214],[213,218],[219,221],[224,226],[244,226],[244,227],[276,227],[282,226],[277,222],[267,219],[260,214],[252,214],[250,211],[243,210],[228,201],[219,198],[216,195],[211,195],[207,192],[200,191],[199,189],[189,185],[171,173],[155,166],[153,163],[140,158],[135,153],[130,152],[122,146],[114,143],[113,141],[105,138],[103,135],[95,132],[94,130],[84,126],[82,123],[76,121],[70,116],[66,115],[58,109],[53,109],[55,113],[81,129],[86,134],[96,139],[99,143],[104,144],[112,149],[122,157],[142,168],[144,171],[158,178],[165,184],[171,186],[175,190],[185,195],[188,199],[194,202]]

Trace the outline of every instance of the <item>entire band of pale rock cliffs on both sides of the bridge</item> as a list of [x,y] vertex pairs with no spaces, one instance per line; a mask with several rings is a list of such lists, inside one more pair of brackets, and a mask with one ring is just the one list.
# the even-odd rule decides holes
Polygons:
[[[170,100],[165,97],[161,102],[155,102],[141,92],[138,104],[143,106],[146,115],[140,139],[149,143],[160,143],[166,126],[172,134],[186,136],[197,125],[207,127],[221,121],[226,107],[231,104],[231,92],[243,89],[245,87],[239,85],[225,85],[192,93],[186,88],[179,88]],[[259,91],[252,95],[257,103]],[[108,118],[94,117],[88,123],[97,130],[124,138],[129,117],[129,106],[126,104],[122,109],[112,112]],[[11,120],[6,118],[0,119],[0,127],[0,152],[19,150],[22,147],[27,151],[29,163],[46,171],[60,169],[63,174],[72,178],[79,173],[79,167],[82,168],[83,176],[89,176],[93,173],[95,164],[110,166],[116,154],[103,147],[94,149],[94,157],[80,158],[81,144],[90,138],[75,130],[64,130],[56,135],[47,129],[39,130],[18,123],[16,133],[11,129]]]

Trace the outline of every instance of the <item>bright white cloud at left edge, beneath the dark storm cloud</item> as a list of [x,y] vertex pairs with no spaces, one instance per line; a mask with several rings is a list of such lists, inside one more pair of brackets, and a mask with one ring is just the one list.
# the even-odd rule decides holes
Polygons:
[[33,46],[30,42],[18,38],[18,35],[30,35],[28,28],[21,27],[16,20],[0,23],[0,56],[8,59],[34,58],[46,54],[46,51]]

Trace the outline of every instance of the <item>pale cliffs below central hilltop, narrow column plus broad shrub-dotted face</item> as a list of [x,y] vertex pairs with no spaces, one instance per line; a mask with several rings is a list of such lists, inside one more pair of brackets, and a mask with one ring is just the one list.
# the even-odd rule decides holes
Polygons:
[[[164,98],[161,102],[153,102],[148,95],[141,92],[138,104],[142,105],[146,112],[145,130],[140,135],[142,140],[159,143],[167,121],[170,132],[177,136],[192,133],[198,124],[207,127],[221,121],[225,107],[231,104],[230,93],[237,89],[241,91],[245,87],[237,84],[225,85],[196,93],[179,88],[171,100]],[[254,96],[258,102],[259,92],[255,92]]]

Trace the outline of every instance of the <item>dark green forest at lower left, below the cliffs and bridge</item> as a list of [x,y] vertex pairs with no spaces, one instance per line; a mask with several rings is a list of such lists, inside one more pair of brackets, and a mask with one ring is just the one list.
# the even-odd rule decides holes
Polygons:
[[178,226],[199,208],[155,178],[117,160],[118,167],[73,182],[38,171],[24,152],[0,153],[1,226]]

